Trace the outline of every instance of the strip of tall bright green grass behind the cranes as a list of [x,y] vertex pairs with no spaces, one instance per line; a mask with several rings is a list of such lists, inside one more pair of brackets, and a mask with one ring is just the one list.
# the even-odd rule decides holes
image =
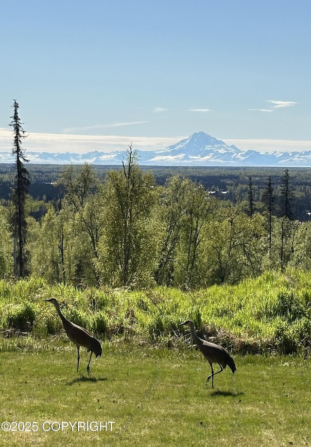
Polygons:
[[[47,285],[42,279],[0,281],[0,330],[28,333],[36,339],[61,334],[55,308],[43,302],[54,296],[69,320],[99,338],[137,338],[149,343],[178,343],[178,323],[192,319],[200,334],[232,350],[292,353],[310,349],[311,278],[288,269],[266,272],[236,286],[212,286],[184,292],[113,290]],[[186,329],[182,329],[186,331]]]

